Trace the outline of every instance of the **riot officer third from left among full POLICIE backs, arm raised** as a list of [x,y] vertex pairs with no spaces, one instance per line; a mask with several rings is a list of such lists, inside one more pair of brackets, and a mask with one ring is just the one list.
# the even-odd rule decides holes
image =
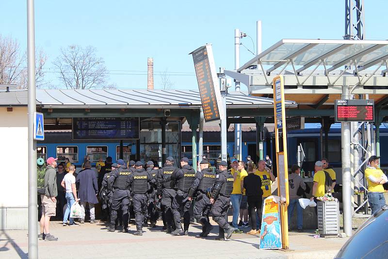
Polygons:
[[[164,218],[166,222],[166,232],[172,232],[172,202],[175,195],[177,195],[177,189],[175,187],[175,181],[171,180],[172,175],[175,175],[180,171],[174,166],[174,158],[167,157],[164,167],[158,172],[158,196],[162,196],[162,210],[164,210]],[[182,174],[182,172],[180,172]]]

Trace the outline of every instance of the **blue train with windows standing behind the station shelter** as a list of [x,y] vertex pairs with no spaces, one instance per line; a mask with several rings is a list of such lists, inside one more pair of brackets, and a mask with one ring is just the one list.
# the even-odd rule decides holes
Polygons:
[[[179,127],[180,128],[180,127]],[[178,129],[179,129],[178,128]],[[181,129],[181,128],[180,128]],[[142,135],[142,134],[141,134]],[[178,134],[179,135],[179,134]],[[269,155],[272,159],[275,157],[274,144],[275,139],[271,134],[264,136],[263,154]],[[167,155],[172,155],[178,162],[179,158],[186,156],[192,157],[192,133],[190,131],[181,131],[180,136],[175,140],[168,140],[166,143]],[[287,132],[288,141],[288,162],[289,165],[297,162],[297,146],[302,145],[305,152],[305,162],[303,168],[305,171],[314,170],[314,162],[320,160],[325,154],[325,146],[321,143],[321,125],[306,124],[305,129],[291,130]],[[210,161],[214,161],[221,153],[221,139],[218,131],[204,131],[203,154]],[[333,124],[329,132],[329,148],[328,159],[331,165],[340,174],[341,167],[341,132],[340,124]],[[388,128],[384,125],[380,128],[380,155],[381,166],[388,166],[388,151],[385,146],[388,146]],[[227,134],[227,151],[228,155],[232,156],[234,150],[234,132]],[[81,167],[81,164],[86,156],[89,156],[93,163],[100,159],[105,161],[107,156],[111,156],[113,161],[119,159],[120,142],[117,140],[100,140],[100,141],[80,141],[72,140],[71,131],[52,131],[46,133],[46,140],[38,142],[37,145],[38,157],[46,159],[47,157],[57,157],[59,162],[69,158],[70,162]],[[248,155],[257,162],[256,154],[256,132],[242,132],[242,158],[246,159]],[[146,140],[144,137],[141,140],[130,140],[123,142],[123,158],[125,161],[142,160],[161,161],[162,144],[158,141]],[[273,159],[274,160],[274,159]],[[339,179],[340,182],[340,179]]]

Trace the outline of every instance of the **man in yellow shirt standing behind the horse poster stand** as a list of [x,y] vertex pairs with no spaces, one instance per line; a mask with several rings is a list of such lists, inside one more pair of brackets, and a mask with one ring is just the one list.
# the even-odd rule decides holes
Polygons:
[[[258,168],[255,172],[255,175],[259,176],[261,178],[261,190],[263,190],[263,199],[264,202],[265,198],[272,195],[271,190],[271,184],[273,181],[275,181],[275,176],[272,173],[272,170],[266,167],[264,160],[259,160],[258,162]],[[258,217],[257,217],[257,226],[256,229],[259,230],[261,228],[261,217],[262,217],[262,209],[263,206],[261,205],[261,210],[258,210]]]

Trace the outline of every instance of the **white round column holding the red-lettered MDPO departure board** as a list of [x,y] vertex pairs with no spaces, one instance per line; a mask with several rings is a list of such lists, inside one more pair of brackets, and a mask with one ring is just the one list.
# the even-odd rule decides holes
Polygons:
[[[342,86],[341,99],[349,99],[349,86]],[[347,236],[352,235],[352,187],[350,161],[350,122],[341,122],[342,144],[342,200],[343,200],[343,228]]]

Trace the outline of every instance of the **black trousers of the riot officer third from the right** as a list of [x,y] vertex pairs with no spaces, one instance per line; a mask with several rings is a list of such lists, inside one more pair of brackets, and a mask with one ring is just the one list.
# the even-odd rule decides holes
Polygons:
[[178,190],[177,195],[175,195],[171,206],[176,226],[180,223],[180,212],[183,212],[184,231],[189,230],[189,226],[190,226],[191,201],[189,201],[187,198],[188,198],[188,193],[184,193],[183,191]]

